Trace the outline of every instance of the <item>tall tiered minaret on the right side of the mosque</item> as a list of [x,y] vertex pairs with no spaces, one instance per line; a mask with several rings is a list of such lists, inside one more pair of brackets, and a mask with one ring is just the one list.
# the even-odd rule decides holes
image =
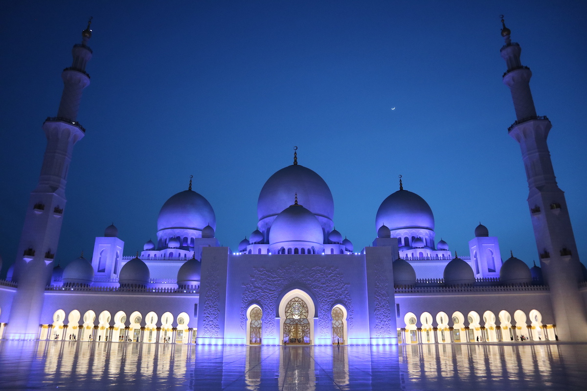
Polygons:
[[504,84],[510,87],[517,120],[508,132],[522,149],[528,178],[528,206],[544,280],[550,287],[556,333],[561,341],[587,341],[587,316],[578,291],[581,264],[564,192],[556,178],[546,137],[548,118],[536,115],[529,81],[532,72],[519,60],[521,48],[511,42],[510,29],[501,19],[505,45],[501,57],[507,64]]

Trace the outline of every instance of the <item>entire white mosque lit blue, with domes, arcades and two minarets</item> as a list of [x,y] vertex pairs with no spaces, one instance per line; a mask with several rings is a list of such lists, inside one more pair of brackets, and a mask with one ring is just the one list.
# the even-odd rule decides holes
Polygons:
[[[48,144],[31,193],[18,259],[0,281],[0,337],[204,345],[458,344],[587,341],[587,271],[579,261],[564,193],[537,115],[521,49],[505,40],[522,151],[528,213],[540,266],[503,254],[498,238],[471,227],[469,254],[437,241],[434,214],[403,188],[377,210],[373,245],[355,249],[335,229],[334,203],[320,175],[298,163],[262,187],[257,230],[238,249],[215,239],[210,202],[192,189],[172,195],[157,240],[124,254],[114,225],[86,255],[55,266],[77,121],[89,84],[90,25],[73,46],[58,113],[43,123]],[[197,189],[205,193],[205,189]],[[504,255],[507,260],[503,261]],[[509,256],[509,257],[508,257]]]

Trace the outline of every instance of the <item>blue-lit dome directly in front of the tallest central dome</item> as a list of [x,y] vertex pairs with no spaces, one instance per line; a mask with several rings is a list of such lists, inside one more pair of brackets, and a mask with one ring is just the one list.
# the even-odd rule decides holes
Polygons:
[[292,205],[275,218],[269,231],[269,244],[306,242],[323,244],[322,226],[316,216],[302,205]]

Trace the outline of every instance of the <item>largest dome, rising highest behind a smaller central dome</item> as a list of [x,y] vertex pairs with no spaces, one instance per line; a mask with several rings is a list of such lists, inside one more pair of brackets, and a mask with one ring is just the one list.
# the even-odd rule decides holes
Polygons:
[[296,193],[299,203],[330,232],[334,218],[332,193],[320,175],[299,164],[280,169],[265,182],[257,202],[259,228],[271,226],[275,217],[291,205]]

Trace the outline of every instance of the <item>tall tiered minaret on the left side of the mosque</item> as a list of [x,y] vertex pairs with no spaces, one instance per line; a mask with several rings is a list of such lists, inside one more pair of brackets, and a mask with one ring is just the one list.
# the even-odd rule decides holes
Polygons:
[[65,210],[65,184],[73,145],[85,134],[77,122],[82,91],[90,84],[86,64],[92,58],[87,43],[92,36],[90,21],[82,32],[82,43],[73,46],[72,66],[63,70],[63,94],[56,117],[43,123],[47,137],[39,183],[31,192],[13,280],[18,289],[12,301],[6,338],[36,339],[43,308],[45,286],[53,270],[53,259]]

